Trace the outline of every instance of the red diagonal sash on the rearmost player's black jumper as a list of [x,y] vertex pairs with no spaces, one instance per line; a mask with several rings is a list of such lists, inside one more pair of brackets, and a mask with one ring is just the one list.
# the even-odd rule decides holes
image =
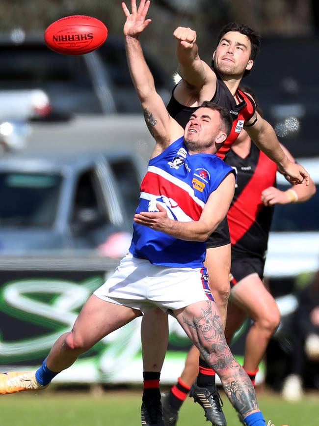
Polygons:
[[263,208],[261,194],[274,184],[277,166],[262,151],[255,172],[230,207],[227,220],[231,243],[234,245],[255,222]]

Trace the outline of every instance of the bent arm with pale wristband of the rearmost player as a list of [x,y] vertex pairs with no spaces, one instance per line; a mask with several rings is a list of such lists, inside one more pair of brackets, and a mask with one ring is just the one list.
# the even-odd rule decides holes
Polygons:
[[[280,144],[284,153],[287,155],[290,161],[294,163],[292,154],[288,151],[285,146]],[[301,185],[292,185],[287,191],[281,191],[278,188],[270,186],[262,192],[262,201],[265,205],[274,204],[289,204],[292,202],[305,202],[316,194],[316,185],[313,180],[309,179],[309,186],[303,182]]]

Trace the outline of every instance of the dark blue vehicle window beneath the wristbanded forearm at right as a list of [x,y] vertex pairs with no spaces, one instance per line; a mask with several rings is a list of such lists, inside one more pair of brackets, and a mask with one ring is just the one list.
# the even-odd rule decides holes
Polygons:
[[[278,185],[286,191],[288,186]],[[277,232],[306,232],[319,231],[319,185],[316,194],[304,203],[276,204],[271,225],[271,231]]]

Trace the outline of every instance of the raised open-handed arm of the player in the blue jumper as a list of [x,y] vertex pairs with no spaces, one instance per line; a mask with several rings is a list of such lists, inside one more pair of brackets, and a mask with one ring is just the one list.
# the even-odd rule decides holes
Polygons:
[[167,113],[157,93],[152,73],[143,56],[138,37],[151,22],[146,19],[150,1],[141,0],[138,8],[132,0],[132,13],[126,4],[122,8],[126,16],[124,25],[125,48],[128,65],[137,96],[141,102],[148,129],[157,142],[154,155],[158,155],[171,142],[184,134],[183,128]]

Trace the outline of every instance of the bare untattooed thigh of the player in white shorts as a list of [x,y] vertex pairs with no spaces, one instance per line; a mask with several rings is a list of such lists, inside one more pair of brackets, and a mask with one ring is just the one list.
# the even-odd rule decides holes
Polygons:
[[91,347],[140,315],[136,309],[106,302],[92,294],[81,309],[72,333],[83,346]]

